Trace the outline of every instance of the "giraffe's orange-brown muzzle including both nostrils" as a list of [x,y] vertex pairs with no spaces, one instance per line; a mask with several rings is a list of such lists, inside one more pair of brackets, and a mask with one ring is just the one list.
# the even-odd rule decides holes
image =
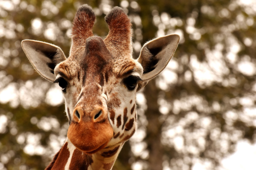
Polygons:
[[113,128],[107,111],[102,107],[96,107],[90,113],[86,113],[80,106],[74,109],[68,139],[76,148],[94,153],[105,148],[112,137]]

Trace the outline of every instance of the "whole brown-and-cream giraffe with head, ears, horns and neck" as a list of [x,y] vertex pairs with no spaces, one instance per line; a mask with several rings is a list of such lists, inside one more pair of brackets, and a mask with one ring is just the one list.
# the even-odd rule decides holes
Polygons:
[[180,39],[153,39],[133,59],[131,21],[122,8],[105,16],[104,40],[93,35],[94,20],[90,6],[77,10],[68,58],[56,45],[21,43],[34,69],[58,83],[65,98],[67,138],[46,170],[111,170],[137,128],[136,92],[166,67]]

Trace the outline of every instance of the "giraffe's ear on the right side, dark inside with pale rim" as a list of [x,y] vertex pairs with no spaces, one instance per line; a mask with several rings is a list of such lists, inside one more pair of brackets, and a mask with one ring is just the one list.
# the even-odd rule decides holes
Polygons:
[[179,35],[171,34],[153,39],[143,45],[137,61],[143,67],[142,81],[137,90],[164,70],[179,44]]

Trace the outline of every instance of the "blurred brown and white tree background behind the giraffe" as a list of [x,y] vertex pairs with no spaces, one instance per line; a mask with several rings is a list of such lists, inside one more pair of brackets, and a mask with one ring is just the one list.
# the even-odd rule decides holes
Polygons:
[[68,56],[84,3],[102,38],[105,14],[124,8],[134,58],[150,39],[181,36],[166,69],[138,93],[138,130],[113,170],[256,169],[255,0],[0,0],[0,170],[43,170],[63,145],[61,89],[33,70],[20,42],[53,43]]

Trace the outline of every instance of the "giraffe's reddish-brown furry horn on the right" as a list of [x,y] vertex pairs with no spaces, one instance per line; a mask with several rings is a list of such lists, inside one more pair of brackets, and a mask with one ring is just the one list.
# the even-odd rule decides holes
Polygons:
[[131,54],[131,20],[128,18],[125,11],[116,6],[106,15],[105,21],[109,27],[108,36],[104,39],[108,50],[116,54],[124,52]]

